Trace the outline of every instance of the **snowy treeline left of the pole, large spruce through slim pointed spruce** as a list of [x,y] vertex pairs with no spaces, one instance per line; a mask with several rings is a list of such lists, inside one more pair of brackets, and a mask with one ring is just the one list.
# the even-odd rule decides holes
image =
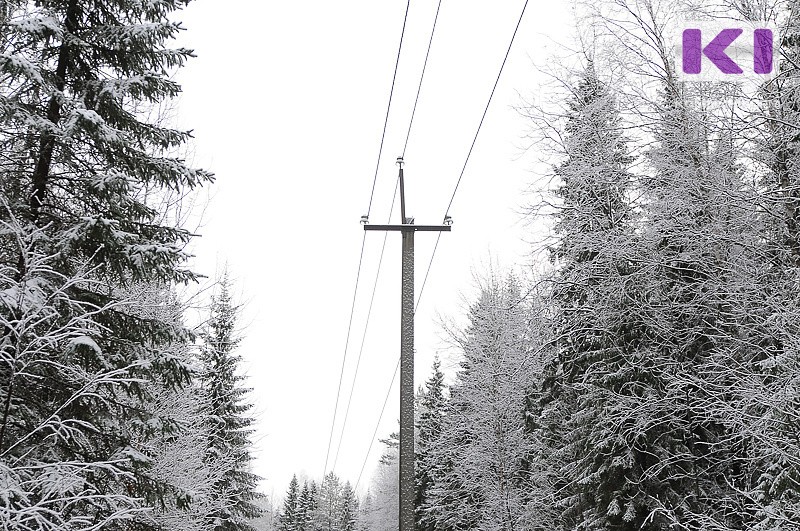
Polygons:
[[259,509],[237,308],[198,333],[159,105],[186,2],[0,3],[0,527],[238,530]]

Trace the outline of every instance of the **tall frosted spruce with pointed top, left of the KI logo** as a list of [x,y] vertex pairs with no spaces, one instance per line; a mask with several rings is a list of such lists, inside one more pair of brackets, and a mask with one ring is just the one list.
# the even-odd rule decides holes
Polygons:
[[626,300],[637,287],[628,280],[633,159],[614,97],[591,61],[573,90],[564,129],[565,160],[555,170],[558,241],[551,253],[557,352],[528,414],[550,449],[535,458],[552,458],[545,469],[552,503],[561,509],[557,521],[565,529],[605,529],[625,525],[632,496],[634,463],[613,432],[607,393],[637,380],[628,357],[637,335],[635,309]]

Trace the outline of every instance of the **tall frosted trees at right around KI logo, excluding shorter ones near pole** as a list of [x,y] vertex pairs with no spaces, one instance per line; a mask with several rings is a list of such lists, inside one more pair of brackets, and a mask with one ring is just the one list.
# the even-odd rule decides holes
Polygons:
[[692,10],[777,16],[790,36],[796,19],[766,4],[588,8],[613,28],[604,64],[636,59],[616,85],[590,62],[558,146],[557,354],[528,408],[551,529],[800,528],[796,63],[747,92],[679,82],[669,49]]

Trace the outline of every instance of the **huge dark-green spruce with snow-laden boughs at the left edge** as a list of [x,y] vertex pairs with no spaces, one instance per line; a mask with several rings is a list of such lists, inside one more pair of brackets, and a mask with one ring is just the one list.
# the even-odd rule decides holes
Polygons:
[[[136,437],[168,431],[148,383],[183,385],[162,348],[182,326],[138,315],[133,282],[192,280],[188,231],[153,198],[210,180],[189,134],[139,111],[177,95],[164,0],[5,2],[0,29],[0,501],[3,526],[117,529],[173,496]],[[155,524],[144,519],[136,524]]]

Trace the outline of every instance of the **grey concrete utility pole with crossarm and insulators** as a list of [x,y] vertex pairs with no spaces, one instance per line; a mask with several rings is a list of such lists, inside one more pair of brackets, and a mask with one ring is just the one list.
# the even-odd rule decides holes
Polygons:
[[[400,295],[400,531],[414,531],[414,233],[450,231],[450,225],[414,225],[406,217],[403,157],[400,166],[400,225],[370,225],[364,230],[396,230],[403,236],[403,272]],[[446,221],[449,218],[446,219]]]

